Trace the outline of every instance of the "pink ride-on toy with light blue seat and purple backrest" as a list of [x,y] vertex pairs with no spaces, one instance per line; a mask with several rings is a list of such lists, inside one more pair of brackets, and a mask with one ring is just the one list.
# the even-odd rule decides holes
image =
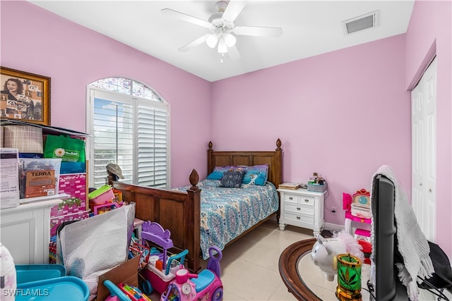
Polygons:
[[[215,257],[213,251],[218,253]],[[223,285],[220,279],[220,259],[222,253],[218,247],[209,248],[210,259],[207,269],[199,274],[189,274],[187,269],[176,271],[176,279],[169,283],[167,290],[162,293],[161,301],[188,300],[222,300]]]

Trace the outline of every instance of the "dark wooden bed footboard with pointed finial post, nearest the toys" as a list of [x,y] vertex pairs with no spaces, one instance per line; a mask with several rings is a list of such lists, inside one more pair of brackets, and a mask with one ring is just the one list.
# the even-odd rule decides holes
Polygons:
[[174,249],[178,253],[189,250],[186,267],[197,272],[201,269],[201,190],[196,186],[199,176],[190,173],[191,188],[186,192],[150,188],[113,182],[113,188],[122,192],[126,202],[135,202],[135,216],[143,221],[154,221],[171,232]]

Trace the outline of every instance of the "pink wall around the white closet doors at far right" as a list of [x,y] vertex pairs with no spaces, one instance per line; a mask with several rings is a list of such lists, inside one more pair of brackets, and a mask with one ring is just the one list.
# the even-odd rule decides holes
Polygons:
[[452,2],[416,1],[406,33],[405,87],[436,54],[436,243],[452,258]]

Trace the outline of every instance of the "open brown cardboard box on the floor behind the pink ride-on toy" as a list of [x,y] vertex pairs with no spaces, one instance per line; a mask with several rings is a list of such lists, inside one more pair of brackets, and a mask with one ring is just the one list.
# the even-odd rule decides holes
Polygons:
[[110,291],[104,285],[106,280],[112,281],[115,285],[123,282],[138,288],[139,262],[140,257],[136,256],[100,275],[99,283],[97,284],[97,301],[105,300],[110,295]]

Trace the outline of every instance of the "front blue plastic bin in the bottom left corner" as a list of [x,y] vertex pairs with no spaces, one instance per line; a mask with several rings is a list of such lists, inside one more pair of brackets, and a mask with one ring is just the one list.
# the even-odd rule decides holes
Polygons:
[[32,281],[17,285],[16,301],[88,301],[90,290],[80,278],[59,278]]

